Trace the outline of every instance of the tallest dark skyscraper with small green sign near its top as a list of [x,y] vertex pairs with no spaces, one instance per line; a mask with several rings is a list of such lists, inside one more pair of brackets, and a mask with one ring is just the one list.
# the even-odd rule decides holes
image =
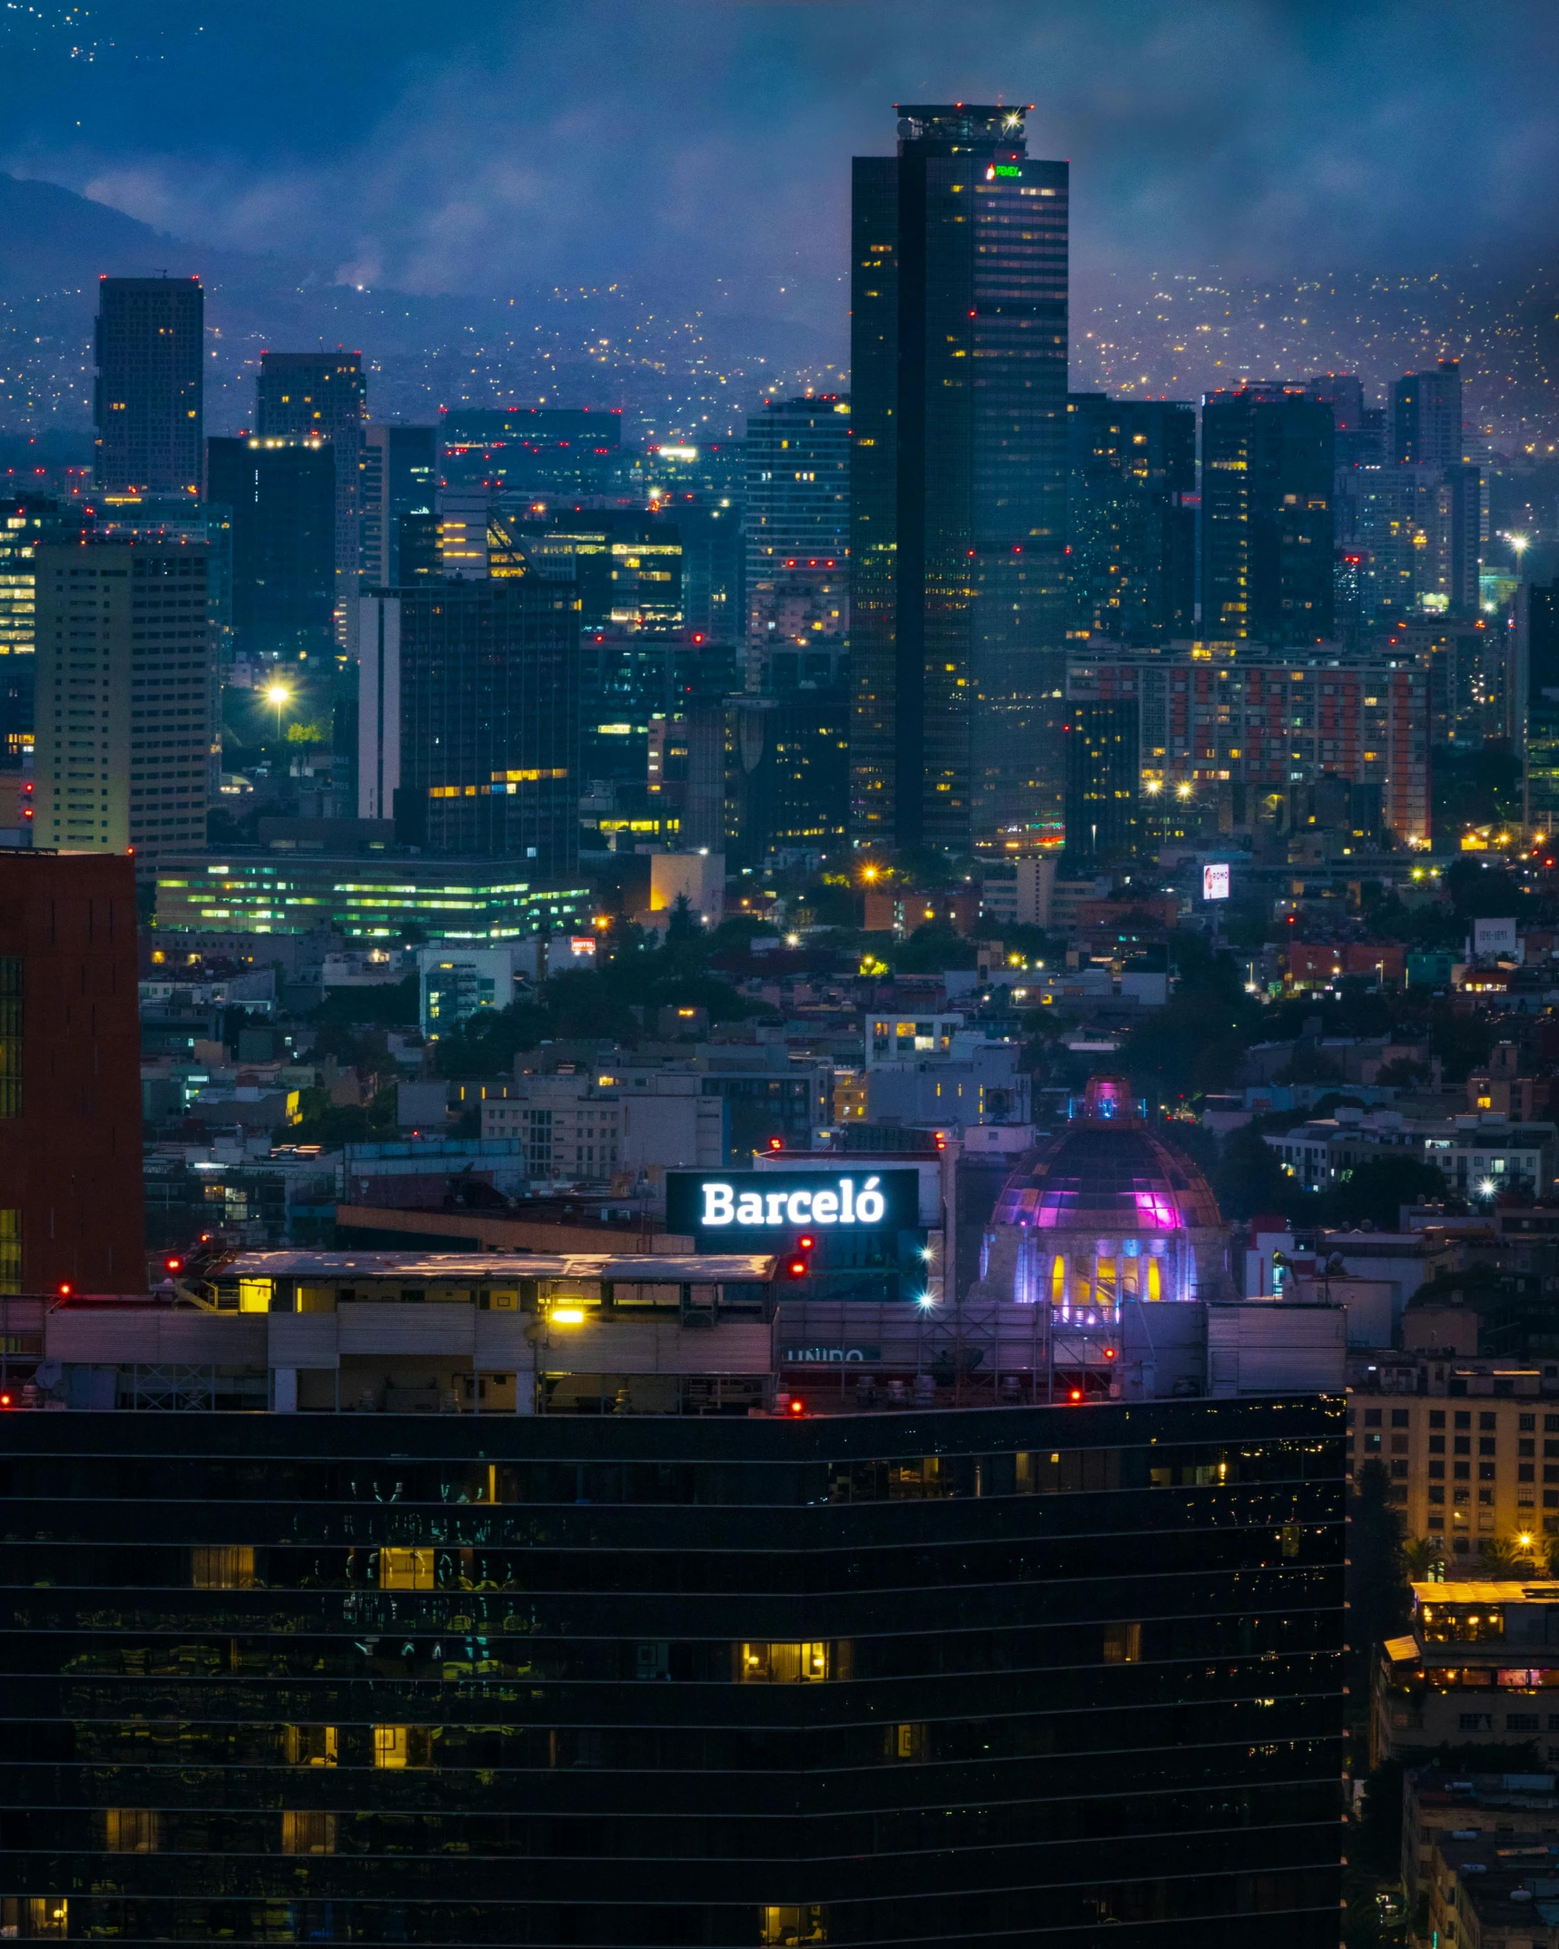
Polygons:
[[902,107],[852,218],[852,824],[1062,830],[1064,162],[1023,109]]

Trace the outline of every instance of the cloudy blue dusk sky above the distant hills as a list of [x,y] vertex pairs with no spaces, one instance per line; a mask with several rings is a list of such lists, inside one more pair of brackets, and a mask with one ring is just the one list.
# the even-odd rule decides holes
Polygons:
[[[148,25],[148,14],[154,21]],[[0,166],[421,292],[633,279],[842,333],[894,99],[1035,101],[1089,279],[1510,263],[1553,240],[1524,0],[162,0],[33,33]]]

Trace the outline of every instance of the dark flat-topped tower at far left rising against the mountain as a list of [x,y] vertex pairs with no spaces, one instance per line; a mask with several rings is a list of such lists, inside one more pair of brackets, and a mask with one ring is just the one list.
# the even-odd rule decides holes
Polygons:
[[205,292],[193,277],[97,285],[94,485],[105,495],[201,491]]

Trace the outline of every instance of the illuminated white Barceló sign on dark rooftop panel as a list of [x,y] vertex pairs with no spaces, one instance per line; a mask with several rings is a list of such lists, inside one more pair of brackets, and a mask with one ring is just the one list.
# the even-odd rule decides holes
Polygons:
[[723,1238],[904,1232],[920,1224],[914,1171],[666,1173],[666,1230]]

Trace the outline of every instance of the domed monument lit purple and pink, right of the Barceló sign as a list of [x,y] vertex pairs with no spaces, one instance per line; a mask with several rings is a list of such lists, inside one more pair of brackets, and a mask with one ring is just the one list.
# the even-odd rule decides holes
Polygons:
[[1212,1187],[1154,1136],[1119,1076],[1091,1078],[1066,1128],[1011,1173],[974,1288],[988,1300],[1048,1306],[1052,1364],[1089,1368],[1091,1378],[1121,1357],[1122,1308],[1230,1292],[1228,1230]]

